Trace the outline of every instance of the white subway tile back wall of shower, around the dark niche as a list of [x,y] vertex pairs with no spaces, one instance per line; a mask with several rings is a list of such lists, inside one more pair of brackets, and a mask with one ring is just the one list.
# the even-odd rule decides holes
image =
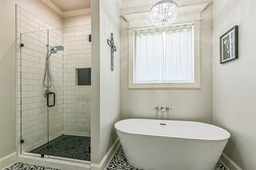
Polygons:
[[91,67],[89,34],[63,33],[63,134],[67,135],[90,136],[91,132],[91,86],[78,86],[76,80],[77,68]]

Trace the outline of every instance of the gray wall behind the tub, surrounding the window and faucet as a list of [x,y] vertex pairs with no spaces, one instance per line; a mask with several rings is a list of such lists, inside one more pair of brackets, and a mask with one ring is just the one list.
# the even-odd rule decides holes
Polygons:
[[[136,12],[144,12],[135,8]],[[148,9],[149,10],[149,9]],[[133,8],[121,9],[121,14],[136,13]],[[128,89],[128,30],[120,19],[120,118],[171,119],[212,123],[212,6],[202,12],[201,63],[202,89]],[[156,113],[155,107],[172,111]]]

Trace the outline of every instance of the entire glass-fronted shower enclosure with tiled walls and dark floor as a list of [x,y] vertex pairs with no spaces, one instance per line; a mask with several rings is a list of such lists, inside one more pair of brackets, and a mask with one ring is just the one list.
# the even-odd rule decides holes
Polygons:
[[20,154],[90,161],[90,30],[84,25],[18,37]]

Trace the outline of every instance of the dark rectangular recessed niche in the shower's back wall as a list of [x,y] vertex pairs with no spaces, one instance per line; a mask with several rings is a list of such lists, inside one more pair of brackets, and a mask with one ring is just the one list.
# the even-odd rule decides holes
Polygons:
[[91,68],[77,69],[77,85],[91,85]]

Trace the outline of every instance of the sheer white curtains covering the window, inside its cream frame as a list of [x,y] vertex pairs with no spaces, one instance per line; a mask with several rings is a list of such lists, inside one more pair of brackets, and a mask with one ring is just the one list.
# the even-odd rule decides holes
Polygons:
[[194,83],[193,24],[134,30],[134,83]]

